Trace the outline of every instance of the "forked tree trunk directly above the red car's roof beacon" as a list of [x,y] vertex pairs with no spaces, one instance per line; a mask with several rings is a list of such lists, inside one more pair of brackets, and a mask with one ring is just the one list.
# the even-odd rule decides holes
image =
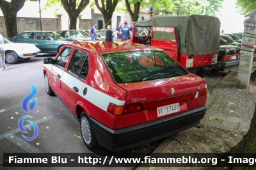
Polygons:
[[99,0],[95,0],[95,5],[97,6],[98,10],[102,13],[104,17],[105,28],[107,28],[107,25],[111,23],[112,15],[115,12],[118,0],[101,0],[100,3],[101,6],[99,4]]

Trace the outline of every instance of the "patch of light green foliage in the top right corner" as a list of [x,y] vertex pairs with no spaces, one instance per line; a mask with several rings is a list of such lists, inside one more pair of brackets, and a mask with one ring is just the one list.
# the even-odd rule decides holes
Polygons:
[[236,0],[236,5],[243,15],[256,10],[255,0]]

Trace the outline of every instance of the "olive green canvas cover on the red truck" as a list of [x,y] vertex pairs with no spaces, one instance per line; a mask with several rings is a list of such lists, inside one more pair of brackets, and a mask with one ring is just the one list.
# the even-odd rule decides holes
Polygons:
[[152,26],[176,27],[182,54],[202,55],[219,51],[220,20],[216,17],[157,15],[151,19],[136,22],[136,27]]

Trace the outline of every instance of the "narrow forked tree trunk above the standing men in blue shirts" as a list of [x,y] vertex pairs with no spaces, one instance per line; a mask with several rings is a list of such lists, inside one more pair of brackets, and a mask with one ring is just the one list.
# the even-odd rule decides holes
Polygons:
[[[140,6],[143,0],[125,0],[125,5],[127,11],[129,12],[132,21],[137,21],[139,19],[140,14]],[[133,12],[131,9],[131,4],[133,6]]]

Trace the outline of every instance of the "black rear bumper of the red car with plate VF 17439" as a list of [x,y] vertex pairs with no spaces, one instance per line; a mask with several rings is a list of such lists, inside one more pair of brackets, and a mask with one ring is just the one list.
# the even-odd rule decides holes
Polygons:
[[121,129],[108,128],[99,121],[90,118],[98,143],[111,151],[122,151],[141,144],[163,139],[172,134],[195,127],[204,118],[207,107],[175,114],[160,120],[150,121]]

